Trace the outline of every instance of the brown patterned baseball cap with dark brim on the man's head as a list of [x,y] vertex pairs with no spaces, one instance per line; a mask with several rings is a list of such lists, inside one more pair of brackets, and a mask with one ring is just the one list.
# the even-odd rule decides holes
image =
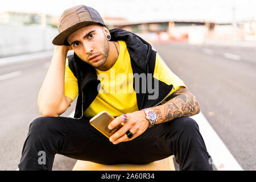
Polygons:
[[56,46],[69,46],[66,39],[79,28],[88,26],[89,24],[100,23],[105,26],[98,11],[92,7],[79,5],[71,7],[63,12],[58,24],[59,34],[52,40]]

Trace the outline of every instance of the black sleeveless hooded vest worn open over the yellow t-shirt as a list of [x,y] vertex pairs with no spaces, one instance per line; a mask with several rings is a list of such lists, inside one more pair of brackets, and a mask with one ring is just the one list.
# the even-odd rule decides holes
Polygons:
[[[152,50],[151,45],[139,36],[117,28],[110,30],[110,35],[112,37],[111,40],[113,41],[125,41],[131,59],[133,74],[138,73],[140,75],[141,73],[151,73],[151,77],[147,77],[147,80],[151,79],[152,88],[154,88],[155,78],[152,76],[155,69],[156,52]],[[97,97],[98,84],[100,84],[100,80],[97,79],[95,68],[92,65],[89,65],[88,63],[82,61],[76,55],[76,53],[68,56],[68,64],[69,68],[77,78],[77,83],[79,86],[79,95],[77,97],[74,117],[82,118],[85,117],[83,114],[84,111],[90,106],[90,104],[92,104],[93,100]],[[146,88],[147,83],[148,81],[146,81]],[[143,82],[143,85],[144,84],[145,83]],[[173,85],[167,85],[160,80],[158,80],[158,84],[158,98],[152,100],[149,96],[154,93],[150,93],[148,89],[146,89],[146,93],[143,92],[142,80],[139,80],[140,91],[136,92],[137,105],[139,110],[146,107],[159,105],[171,92],[173,87]],[[137,90],[135,89],[135,84],[133,84],[133,88],[134,90]]]

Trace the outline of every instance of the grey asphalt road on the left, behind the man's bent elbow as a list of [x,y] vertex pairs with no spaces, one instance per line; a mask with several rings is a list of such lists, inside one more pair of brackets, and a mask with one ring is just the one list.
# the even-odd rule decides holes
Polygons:
[[[0,80],[0,170],[16,170],[22,154],[28,127],[40,117],[37,97],[46,76],[51,57],[0,67],[0,78],[19,71],[20,75]],[[72,102],[61,116],[75,109]],[[71,170],[76,160],[56,155],[53,170]]]

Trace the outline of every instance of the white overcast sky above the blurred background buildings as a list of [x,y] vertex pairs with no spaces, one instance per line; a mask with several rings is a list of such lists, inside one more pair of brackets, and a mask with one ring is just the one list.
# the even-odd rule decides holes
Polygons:
[[46,12],[60,15],[69,7],[91,6],[101,16],[124,17],[130,21],[210,20],[232,22],[233,7],[236,19],[256,19],[255,0],[7,0],[1,1],[0,12]]

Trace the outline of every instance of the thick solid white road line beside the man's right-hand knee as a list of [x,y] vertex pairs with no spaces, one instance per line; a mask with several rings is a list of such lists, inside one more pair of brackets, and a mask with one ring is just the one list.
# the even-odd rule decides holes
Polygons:
[[243,171],[240,164],[230,153],[224,142],[218,137],[218,134],[210,126],[203,113],[193,115],[196,123],[199,125],[199,130],[204,138],[207,151],[212,157],[212,162],[218,171]]

